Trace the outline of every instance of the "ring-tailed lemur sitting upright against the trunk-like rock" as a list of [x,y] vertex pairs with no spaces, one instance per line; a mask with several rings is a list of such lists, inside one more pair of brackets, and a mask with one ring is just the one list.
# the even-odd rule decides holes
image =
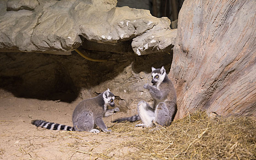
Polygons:
[[153,106],[150,107],[145,101],[138,103],[138,114],[132,117],[119,118],[113,122],[129,121],[134,122],[141,119],[143,124],[137,124],[135,127],[150,127],[155,121],[159,125],[167,126],[173,121],[177,112],[176,91],[171,80],[169,80],[164,67],[161,69],[151,68],[153,85],[145,84],[143,87],[150,92],[154,99]]

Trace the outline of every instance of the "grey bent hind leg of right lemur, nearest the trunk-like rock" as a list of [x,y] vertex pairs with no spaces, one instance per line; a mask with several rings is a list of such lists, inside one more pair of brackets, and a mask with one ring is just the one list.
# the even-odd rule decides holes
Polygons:
[[170,124],[170,114],[165,102],[160,102],[156,106],[155,121],[161,126],[167,126]]

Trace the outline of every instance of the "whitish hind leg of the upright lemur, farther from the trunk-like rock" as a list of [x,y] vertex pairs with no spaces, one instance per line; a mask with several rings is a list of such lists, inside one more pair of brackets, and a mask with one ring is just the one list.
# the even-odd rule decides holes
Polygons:
[[142,124],[137,124],[135,127],[151,127],[153,124],[152,120],[155,119],[153,108],[151,108],[145,101],[140,101],[137,107]]

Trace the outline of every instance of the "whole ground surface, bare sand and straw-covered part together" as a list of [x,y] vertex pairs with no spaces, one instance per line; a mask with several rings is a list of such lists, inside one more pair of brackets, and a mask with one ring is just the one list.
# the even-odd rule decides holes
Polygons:
[[0,90],[0,159],[4,160],[256,160],[255,117],[189,113],[168,127],[111,123],[111,133],[51,131],[30,122],[72,125],[72,103],[17,98]]

